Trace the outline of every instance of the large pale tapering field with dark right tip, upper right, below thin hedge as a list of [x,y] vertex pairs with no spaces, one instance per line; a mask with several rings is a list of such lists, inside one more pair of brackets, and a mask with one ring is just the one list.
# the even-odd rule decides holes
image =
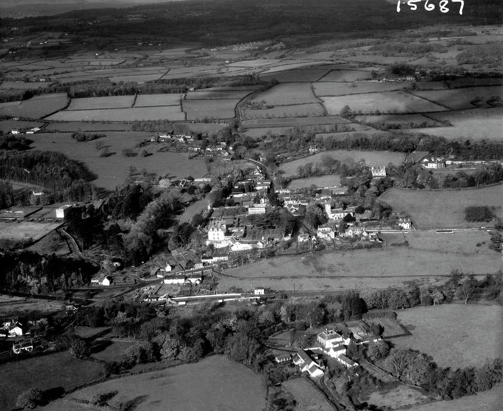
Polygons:
[[403,91],[357,94],[340,97],[323,97],[328,114],[338,115],[345,105],[363,114],[381,113],[421,113],[422,111],[444,111],[447,108]]

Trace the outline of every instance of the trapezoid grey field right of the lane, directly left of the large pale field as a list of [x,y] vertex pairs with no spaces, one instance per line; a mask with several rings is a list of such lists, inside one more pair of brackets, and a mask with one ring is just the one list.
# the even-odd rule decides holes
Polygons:
[[261,100],[265,100],[267,104],[274,106],[320,102],[313,95],[311,85],[308,83],[278,84],[261,92],[252,101],[258,102]]

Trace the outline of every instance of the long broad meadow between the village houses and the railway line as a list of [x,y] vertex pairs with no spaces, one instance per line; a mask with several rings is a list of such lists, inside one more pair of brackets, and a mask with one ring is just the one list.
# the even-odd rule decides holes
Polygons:
[[409,247],[326,250],[259,260],[225,270],[218,288],[246,291],[260,284],[288,291],[382,289],[406,287],[412,281],[443,284],[453,269],[485,275],[501,268],[501,254],[476,247],[478,242],[489,241],[486,231],[410,232],[405,236]]

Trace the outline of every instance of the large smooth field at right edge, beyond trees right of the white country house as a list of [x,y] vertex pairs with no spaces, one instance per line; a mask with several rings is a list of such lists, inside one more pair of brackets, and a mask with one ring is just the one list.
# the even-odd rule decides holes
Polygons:
[[503,356],[503,307],[442,304],[398,310],[412,335],[393,340],[425,352],[441,367],[473,367]]

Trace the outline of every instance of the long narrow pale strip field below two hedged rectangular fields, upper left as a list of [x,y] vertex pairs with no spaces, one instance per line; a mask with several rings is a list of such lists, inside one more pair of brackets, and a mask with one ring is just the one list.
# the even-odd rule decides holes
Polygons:
[[134,108],[98,108],[93,110],[62,110],[47,117],[58,121],[133,121],[172,120],[183,121],[185,114],[180,106],[155,106]]

